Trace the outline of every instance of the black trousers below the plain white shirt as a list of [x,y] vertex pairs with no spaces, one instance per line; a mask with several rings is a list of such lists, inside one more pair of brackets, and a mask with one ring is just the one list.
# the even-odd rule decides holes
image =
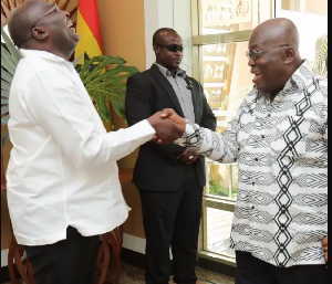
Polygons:
[[66,229],[66,240],[46,245],[25,245],[35,284],[93,284],[100,235],[83,236]]

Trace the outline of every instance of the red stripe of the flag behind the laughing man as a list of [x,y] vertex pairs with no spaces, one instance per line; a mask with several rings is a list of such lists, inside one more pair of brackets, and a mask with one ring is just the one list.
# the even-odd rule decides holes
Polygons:
[[87,27],[90,28],[93,36],[97,41],[101,51],[103,51],[96,0],[79,0],[77,8],[80,10],[82,18],[84,19]]

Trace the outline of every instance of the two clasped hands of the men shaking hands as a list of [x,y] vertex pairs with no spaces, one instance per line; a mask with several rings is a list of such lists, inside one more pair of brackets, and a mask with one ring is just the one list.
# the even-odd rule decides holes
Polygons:
[[164,108],[147,118],[147,120],[156,130],[153,140],[158,144],[170,144],[186,130],[186,119],[178,116],[172,108]]

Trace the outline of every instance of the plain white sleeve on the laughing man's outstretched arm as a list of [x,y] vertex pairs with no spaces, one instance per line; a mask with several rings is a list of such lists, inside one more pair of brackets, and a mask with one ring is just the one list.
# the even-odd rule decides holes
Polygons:
[[33,76],[29,90],[24,91],[22,102],[27,112],[75,167],[89,168],[118,160],[155,134],[147,120],[106,133],[100,126],[102,122],[96,120],[96,116],[100,117],[86,91],[59,72],[52,72],[52,78],[46,74]]

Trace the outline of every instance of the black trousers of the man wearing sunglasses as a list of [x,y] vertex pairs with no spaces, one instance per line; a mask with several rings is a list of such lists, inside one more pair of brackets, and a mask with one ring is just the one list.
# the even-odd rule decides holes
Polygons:
[[147,284],[168,284],[169,248],[174,282],[196,283],[203,188],[198,185],[193,166],[187,166],[185,175],[183,187],[175,192],[139,190],[146,236]]

